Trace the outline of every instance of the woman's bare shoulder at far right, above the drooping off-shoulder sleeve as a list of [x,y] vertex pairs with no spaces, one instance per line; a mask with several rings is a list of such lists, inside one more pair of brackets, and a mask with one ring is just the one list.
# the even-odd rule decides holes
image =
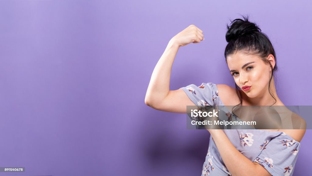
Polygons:
[[302,118],[297,113],[292,113],[291,120],[293,122],[293,126],[295,129],[281,129],[279,131],[283,131],[291,138],[295,139],[296,141],[300,142],[305,135],[306,131],[306,122],[305,119]]

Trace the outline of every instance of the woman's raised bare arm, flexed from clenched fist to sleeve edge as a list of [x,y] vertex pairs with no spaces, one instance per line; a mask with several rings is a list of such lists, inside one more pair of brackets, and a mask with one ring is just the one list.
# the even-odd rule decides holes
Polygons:
[[145,104],[161,111],[186,113],[187,105],[194,105],[182,89],[169,90],[174,58],[181,46],[200,43],[202,30],[190,25],[174,36],[156,64],[145,95]]

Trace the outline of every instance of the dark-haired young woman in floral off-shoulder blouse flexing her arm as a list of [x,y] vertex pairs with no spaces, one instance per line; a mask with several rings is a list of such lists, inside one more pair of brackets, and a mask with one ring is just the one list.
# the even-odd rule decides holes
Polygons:
[[[276,56],[268,37],[255,23],[235,19],[227,25],[225,58],[236,88],[202,83],[169,90],[173,60],[181,46],[200,43],[203,31],[190,25],[174,36],[154,68],[145,103],[155,109],[187,113],[188,105],[284,106],[275,91]],[[294,113],[293,113],[294,114]],[[291,176],[305,134],[299,129],[208,129],[210,142],[202,176]]]

